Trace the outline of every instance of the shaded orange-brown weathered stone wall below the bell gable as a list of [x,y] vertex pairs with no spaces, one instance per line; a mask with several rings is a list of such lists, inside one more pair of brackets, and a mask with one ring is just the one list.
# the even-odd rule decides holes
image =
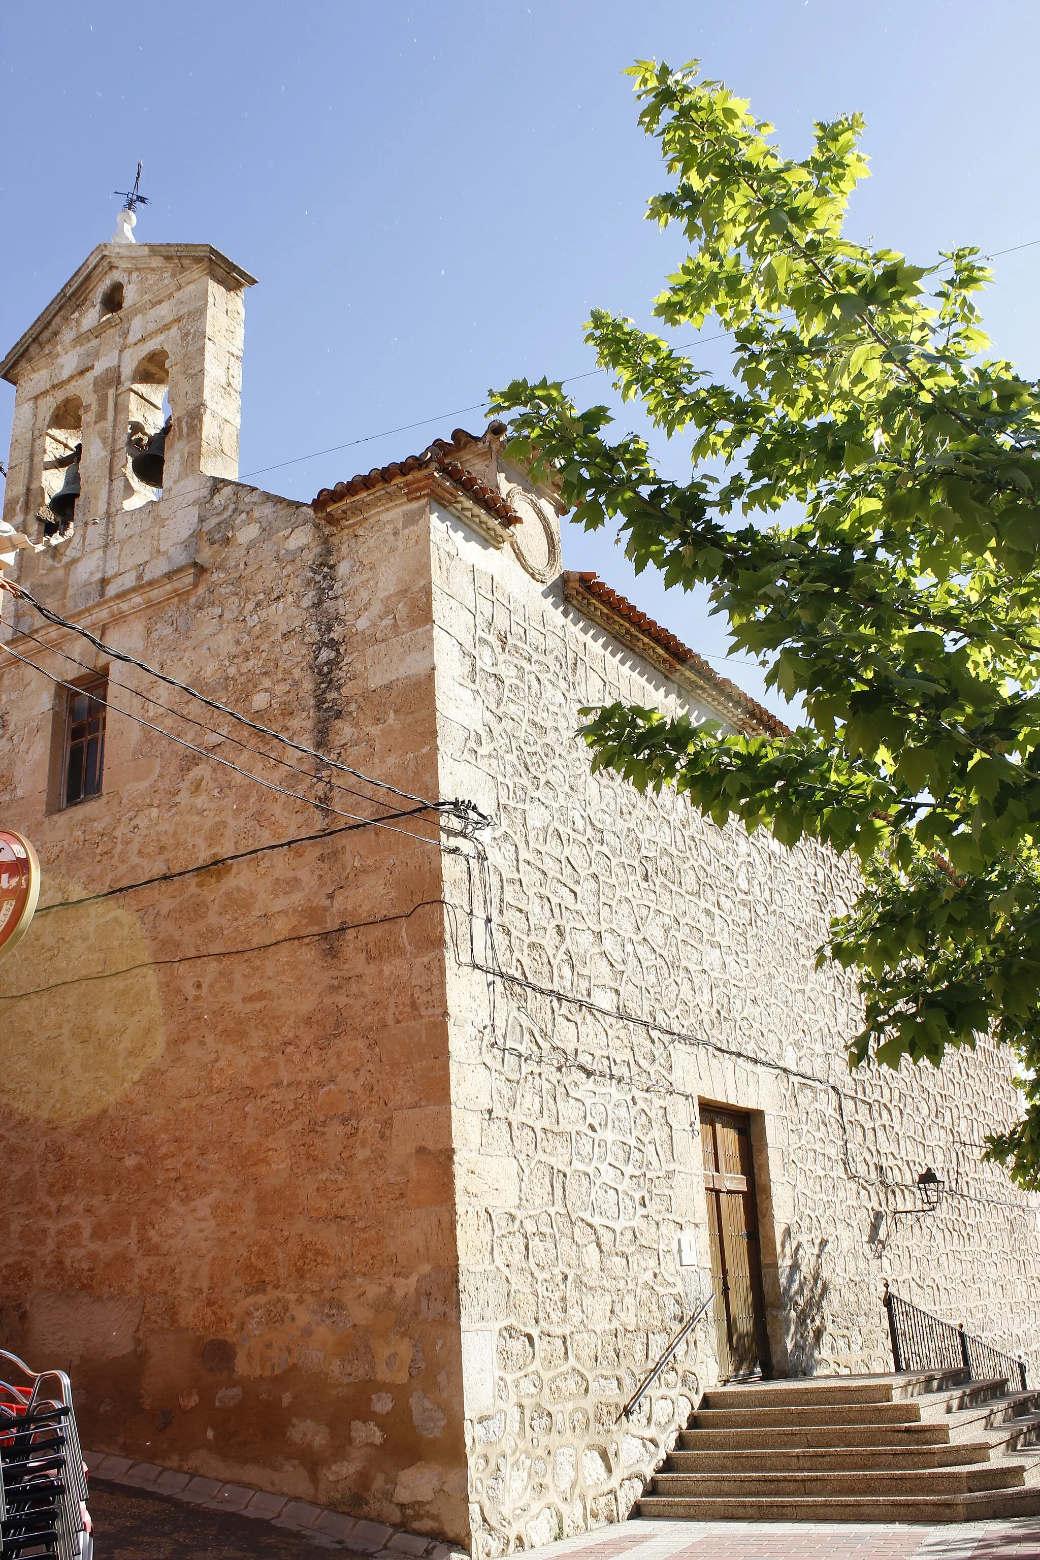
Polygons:
[[[147,585],[106,597],[101,576],[95,632],[437,796],[423,504],[335,530],[209,482],[189,562],[164,562],[157,518],[151,535]],[[36,566],[59,608],[69,569]],[[8,643],[58,677],[83,675],[61,652],[106,665],[65,632]],[[0,661],[3,821],[36,844],[44,905],[87,899],[42,913],[0,964],[5,1345],[72,1370],[86,1445],[465,1538],[429,814],[399,825],[423,839],[332,833],[352,819],[214,758],[349,814],[410,803],[343,774],[315,786],[172,710],[307,760],[115,661],[114,705],[212,757],[111,711],[103,794],[48,813],[56,688]]]

